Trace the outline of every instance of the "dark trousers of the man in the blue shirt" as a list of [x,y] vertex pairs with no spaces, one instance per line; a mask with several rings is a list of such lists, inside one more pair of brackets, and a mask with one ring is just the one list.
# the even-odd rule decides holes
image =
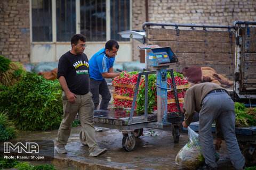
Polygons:
[[98,105],[100,103],[100,97],[101,95],[101,103],[100,103],[100,109],[101,110],[107,110],[108,109],[108,103],[111,99],[111,94],[108,89],[108,84],[105,79],[103,80],[94,80],[90,78],[90,87],[91,87],[91,93],[92,93],[92,101],[94,103],[94,111],[97,111]]

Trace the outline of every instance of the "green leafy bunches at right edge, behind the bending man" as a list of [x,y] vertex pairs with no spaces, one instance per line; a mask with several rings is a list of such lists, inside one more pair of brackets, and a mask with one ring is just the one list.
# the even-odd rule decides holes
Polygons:
[[235,103],[236,126],[247,127],[256,125],[256,107],[246,108],[243,103]]

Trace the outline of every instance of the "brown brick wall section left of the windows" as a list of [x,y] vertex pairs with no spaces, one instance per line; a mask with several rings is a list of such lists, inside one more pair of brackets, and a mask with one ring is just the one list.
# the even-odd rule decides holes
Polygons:
[[0,1],[0,55],[30,62],[29,0]]

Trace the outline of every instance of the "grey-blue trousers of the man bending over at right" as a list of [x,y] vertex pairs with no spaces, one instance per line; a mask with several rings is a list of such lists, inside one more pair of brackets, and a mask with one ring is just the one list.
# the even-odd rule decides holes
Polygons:
[[220,121],[231,163],[235,169],[243,169],[244,156],[241,154],[236,139],[234,108],[234,101],[226,92],[211,93],[202,101],[202,109],[199,113],[199,142],[205,163],[212,168],[217,167],[214,158],[212,122],[218,120]]

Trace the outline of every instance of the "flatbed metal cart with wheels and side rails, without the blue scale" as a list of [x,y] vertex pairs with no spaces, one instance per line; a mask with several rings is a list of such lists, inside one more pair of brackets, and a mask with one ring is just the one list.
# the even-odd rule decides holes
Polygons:
[[[134,92],[132,108],[118,109],[111,108],[109,111],[94,111],[94,123],[95,126],[109,129],[117,129],[123,133],[122,146],[126,151],[132,151],[135,148],[135,138],[138,138],[143,133],[143,128],[155,128],[155,129],[170,129],[172,128],[172,135],[175,143],[179,142],[180,136],[180,124],[182,123],[183,117],[181,116],[179,100],[177,96],[177,89],[175,86],[175,80],[173,70],[169,69],[167,72],[171,72],[172,80],[174,84],[174,96],[176,99],[176,105],[178,106],[178,112],[167,113],[163,115],[166,119],[165,122],[157,122],[157,114],[147,114],[148,108],[148,75],[155,74],[156,71],[139,72],[138,80]],[[134,111],[135,102],[139,90],[139,82],[141,75],[145,75],[145,114],[136,113]],[[133,113],[133,114],[131,114]],[[76,120],[78,120],[78,115]],[[79,139],[81,143],[86,146],[86,137],[81,130],[79,133]]]

